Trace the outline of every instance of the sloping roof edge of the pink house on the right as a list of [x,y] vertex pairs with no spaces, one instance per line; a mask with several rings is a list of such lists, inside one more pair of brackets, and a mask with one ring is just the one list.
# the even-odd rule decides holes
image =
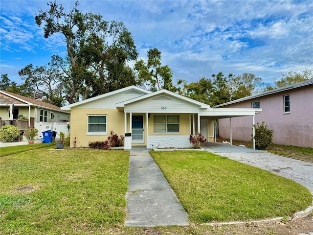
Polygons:
[[295,84],[292,84],[292,85],[289,85],[289,86],[286,86],[286,87],[280,87],[280,88],[273,89],[273,90],[270,90],[270,91],[266,91],[266,92],[263,92],[263,93],[253,94],[253,95],[246,96],[246,97],[243,97],[243,98],[240,98],[240,99],[229,101],[229,102],[226,102],[224,104],[219,104],[219,105],[214,106],[213,108],[222,107],[222,106],[225,106],[225,105],[228,105],[228,104],[234,104],[234,103],[242,102],[242,101],[249,100],[249,99],[259,98],[259,97],[270,95],[270,94],[276,94],[276,93],[280,93],[280,92],[285,92],[285,91],[289,91],[289,90],[292,90],[292,89],[296,89],[296,88],[300,88],[300,87],[304,87],[304,86],[308,86],[308,85],[312,85],[312,84],[313,84],[313,79],[309,79],[309,80],[306,80],[304,82],[298,82],[298,83],[295,83]]

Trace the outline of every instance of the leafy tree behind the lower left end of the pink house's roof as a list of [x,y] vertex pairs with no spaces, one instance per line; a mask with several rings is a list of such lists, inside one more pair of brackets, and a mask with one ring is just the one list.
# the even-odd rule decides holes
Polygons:
[[261,77],[256,77],[253,73],[243,73],[242,75],[229,76],[229,86],[231,89],[231,100],[256,94],[261,91],[264,85]]

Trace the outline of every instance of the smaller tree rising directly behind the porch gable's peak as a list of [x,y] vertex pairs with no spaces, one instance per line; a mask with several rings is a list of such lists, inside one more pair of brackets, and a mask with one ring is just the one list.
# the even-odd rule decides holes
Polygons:
[[161,52],[157,48],[149,49],[147,52],[147,64],[140,59],[134,65],[134,70],[138,74],[139,83],[148,86],[148,90],[157,91],[166,89],[175,91],[173,86],[173,72],[168,65],[161,66]]

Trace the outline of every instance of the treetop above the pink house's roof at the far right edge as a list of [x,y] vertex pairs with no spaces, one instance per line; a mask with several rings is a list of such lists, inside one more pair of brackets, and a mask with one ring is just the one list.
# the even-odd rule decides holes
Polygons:
[[313,69],[304,70],[301,72],[289,71],[287,73],[283,73],[282,76],[283,77],[280,80],[274,81],[275,88],[285,87],[294,83],[304,82],[308,79],[313,79]]

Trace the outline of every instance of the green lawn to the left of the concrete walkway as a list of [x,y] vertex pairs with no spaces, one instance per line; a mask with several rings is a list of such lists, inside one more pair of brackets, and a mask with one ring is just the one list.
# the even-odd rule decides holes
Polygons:
[[89,149],[0,158],[0,234],[90,234],[121,226],[128,163],[129,152]]

